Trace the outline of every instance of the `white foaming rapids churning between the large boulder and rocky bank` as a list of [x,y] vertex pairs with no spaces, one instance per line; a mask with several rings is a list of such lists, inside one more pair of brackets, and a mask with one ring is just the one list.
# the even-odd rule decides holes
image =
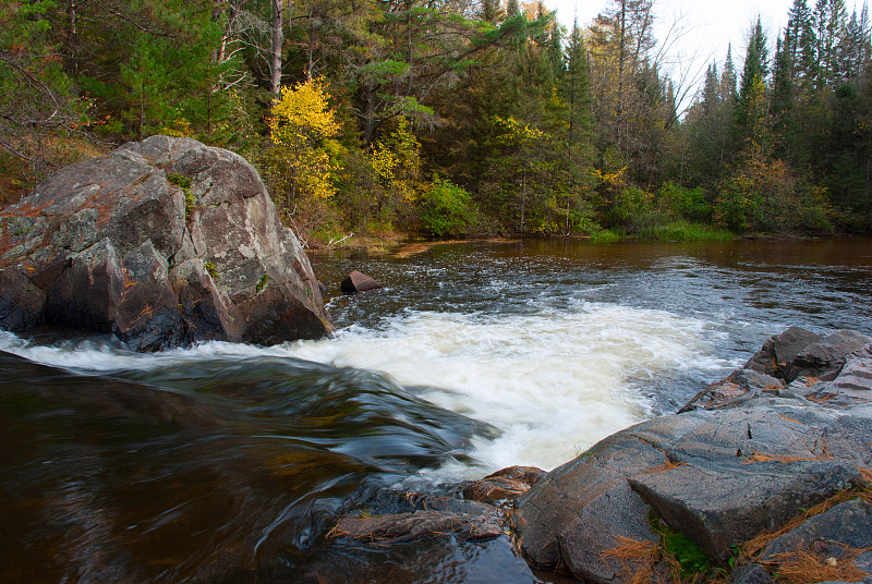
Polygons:
[[208,356],[292,356],[380,372],[421,398],[487,422],[473,464],[428,471],[433,478],[482,476],[510,465],[550,470],[650,415],[645,380],[686,366],[723,368],[706,323],[662,311],[578,301],[532,314],[407,311],[379,330],[349,327],[335,339],[272,348],[211,342],[137,354],[78,343],[31,345],[0,332],[0,350],[82,373],[150,369]]

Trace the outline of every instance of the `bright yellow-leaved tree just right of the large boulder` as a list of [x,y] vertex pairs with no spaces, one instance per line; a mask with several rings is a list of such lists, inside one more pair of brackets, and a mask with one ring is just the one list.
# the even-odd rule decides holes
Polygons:
[[282,215],[290,217],[302,199],[313,203],[336,193],[341,171],[342,146],[335,139],[340,124],[328,105],[323,80],[311,80],[281,88],[268,120],[272,139],[274,198]]

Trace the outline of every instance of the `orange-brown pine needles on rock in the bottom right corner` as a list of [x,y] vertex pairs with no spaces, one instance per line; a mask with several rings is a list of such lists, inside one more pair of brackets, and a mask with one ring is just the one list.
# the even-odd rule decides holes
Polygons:
[[869,574],[857,568],[853,560],[871,550],[848,548],[846,555],[836,559],[800,545],[796,551],[776,553],[772,563],[778,568],[778,580],[788,584],[860,582]]

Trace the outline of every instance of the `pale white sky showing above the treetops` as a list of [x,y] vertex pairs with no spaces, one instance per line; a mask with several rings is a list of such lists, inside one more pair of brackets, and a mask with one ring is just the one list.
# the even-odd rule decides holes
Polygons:
[[[685,78],[695,90],[708,63],[714,60],[720,66],[729,44],[732,44],[734,64],[741,71],[748,35],[758,15],[772,54],[792,3],[794,0],[655,0],[655,37],[661,42],[670,36],[677,39],[669,50],[673,81],[678,84]],[[568,29],[572,27],[576,10],[583,27],[608,4],[607,0],[546,0],[546,5],[557,9],[558,20]],[[852,2],[848,0],[846,4],[850,10]],[[670,35],[670,28],[683,33]]]

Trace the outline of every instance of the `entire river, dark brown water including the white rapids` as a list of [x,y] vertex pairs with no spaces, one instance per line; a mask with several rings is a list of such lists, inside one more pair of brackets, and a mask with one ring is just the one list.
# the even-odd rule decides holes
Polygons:
[[370,548],[342,512],[550,469],[766,337],[872,332],[872,240],[410,246],[313,258],[334,340],[140,355],[0,332],[0,583],[541,582],[507,538]]

